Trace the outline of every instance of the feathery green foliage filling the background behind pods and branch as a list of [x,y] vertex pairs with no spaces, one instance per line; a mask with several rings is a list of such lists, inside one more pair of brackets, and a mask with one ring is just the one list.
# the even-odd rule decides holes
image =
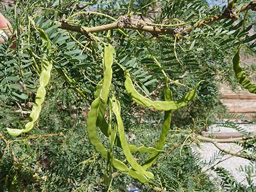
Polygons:
[[[248,2],[236,1],[235,6]],[[138,15],[140,18],[149,18],[153,23],[178,18],[193,26],[197,21],[222,13],[225,6],[210,8],[205,1],[199,0],[120,0],[113,3],[37,0],[17,1],[15,7],[1,10],[17,32],[17,47],[10,49],[11,44],[8,42],[0,44],[0,130],[19,159],[19,169],[13,162],[10,148],[0,140],[0,185],[3,186],[0,191],[108,190],[100,183],[105,160],[89,143],[85,126],[95,86],[103,76],[102,41],[110,42],[116,50],[112,90],[122,105],[127,137],[135,144],[154,146],[160,134],[163,114],[132,103],[124,88],[120,65],[130,70],[137,90],[154,100],[163,100],[162,90],[159,89],[165,80],[162,69],[173,82],[178,80],[185,85],[172,84],[175,100],[185,95],[200,80],[204,80],[198,90],[198,99],[173,113],[172,132],[164,146],[164,153],[151,171],[156,175],[157,186],[167,191],[217,191],[217,181],[200,174],[203,162],[196,158],[197,154],[191,152],[193,140],[186,140],[185,135],[178,131],[200,132],[215,122],[216,114],[219,117],[223,115],[225,110],[220,103],[218,82],[225,82],[234,90],[237,88],[231,66],[234,50],[242,43],[243,52],[255,55],[255,35],[248,34],[255,19],[251,11],[247,14],[247,20],[243,20],[245,13],[241,13],[239,20],[225,19],[210,26],[192,29],[190,35],[176,41],[172,35],[152,35],[126,29],[122,29],[124,33],[111,30],[111,39],[107,38],[107,32],[90,34],[88,38],[86,35],[59,29],[58,22],[65,20],[70,24],[88,27],[113,22],[109,17],[92,13],[72,17],[79,11],[96,11],[116,19],[127,14]],[[165,24],[173,23],[166,21]],[[34,101],[38,86],[39,64],[44,49],[34,26],[44,29],[52,42],[53,51],[48,56],[54,61],[54,70],[40,120],[31,133],[12,138],[5,127],[21,128],[25,125],[28,115],[22,116],[15,111],[20,110],[20,106],[23,110],[31,109],[29,102]],[[156,64],[153,56],[161,67]],[[246,70],[251,74],[255,72],[255,66],[248,66]],[[46,134],[57,135],[38,138],[31,136]],[[103,137],[101,139],[106,140]],[[167,154],[178,144],[183,145]],[[117,157],[124,159],[121,151],[117,151]],[[144,154],[136,154],[136,157],[145,158]],[[227,172],[217,171],[220,171],[226,182],[226,185],[221,186],[223,190],[235,191],[229,185],[233,180],[225,179]],[[139,184],[129,176],[120,174],[114,178],[109,191],[127,191],[126,185],[129,183],[136,183],[142,191],[153,190],[149,184]],[[237,183],[237,186],[240,185]],[[255,190],[253,184],[251,189]],[[243,187],[243,190],[249,189]]]

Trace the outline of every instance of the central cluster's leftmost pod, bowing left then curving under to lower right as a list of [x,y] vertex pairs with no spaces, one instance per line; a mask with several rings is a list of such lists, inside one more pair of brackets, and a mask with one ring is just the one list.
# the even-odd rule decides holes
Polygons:
[[[87,114],[87,134],[88,138],[90,140],[90,143],[94,145],[96,150],[101,153],[102,157],[105,159],[108,159],[108,151],[107,149],[100,143],[99,136],[96,132],[96,119],[97,119],[97,112],[100,107],[101,98],[97,97],[92,105],[89,113]],[[132,169],[127,168],[127,166],[121,162],[118,159],[115,159],[113,157],[113,166],[114,168],[123,171],[123,172],[129,172],[129,175],[131,175],[133,178],[138,179],[139,182],[142,183],[152,183],[154,182],[149,181],[144,175],[139,174],[137,171],[134,171]]]

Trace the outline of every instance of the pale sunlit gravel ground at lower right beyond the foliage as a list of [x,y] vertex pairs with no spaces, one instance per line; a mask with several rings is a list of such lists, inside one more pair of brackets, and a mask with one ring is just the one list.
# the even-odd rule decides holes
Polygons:
[[[256,124],[239,124],[240,127],[246,129],[246,131],[249,132],[255,132],[256,131]],[[234,129],[231,128],[225,128],[221,127],[219,125],[214,125],[210,128],[210,133],[211,132],[236,132]],[[234,144],[234,143],[222,143],[218,144],[220,147],[224,148],[225,150],[229,150],[231,152],[238,152],[241,150],[241,148]],[[200,156],[206,161],[206,163],[210,162],[210,159],[214,154],[218,154],[220,150],[215,147],[214,144],[212,143],[202,143],[200,148],[194,148],[197,152],[200,153]],[[237,181],[243,183],[243,184],[248,184],[246,181],[246,175],[239,171],[240,166],[245,166],[249,165],[251,161],[241,158],[241,157],[231,157],[230,155],[225,155],[225,156],[218,156],[220,159],[226,159],[217,166],[221,166],[231,172],[231,174],[237,179]],[[230,157],[230,158],[228,158]],[[208,167],[204,167],[203,170],[207,169]],[[216,177],[216,174],[213,175]],[[256,184],[256,177],[254,176],[253,182]]]

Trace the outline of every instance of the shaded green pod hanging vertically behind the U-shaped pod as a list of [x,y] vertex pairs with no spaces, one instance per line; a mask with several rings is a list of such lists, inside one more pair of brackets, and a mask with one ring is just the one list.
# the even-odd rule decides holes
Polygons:
[[[166,86],[164,88],[164,100],[165,101],[172,101],[173,100],[173,93],[172,90],[169,89],[169,86],[166,82]],[[166,137],[168,135],[170,129],[170,122],[172,120],[172,110],[167,110],[164,112],[164,121],[162,126],[162,132],[159,138],[159,141],[156,144],[156,149],[162,150],[164,143],[166,142]],[[159,157],[159,152],[152,153],[146,162],[143,164],[143,168],[147,170],[150,168]]]

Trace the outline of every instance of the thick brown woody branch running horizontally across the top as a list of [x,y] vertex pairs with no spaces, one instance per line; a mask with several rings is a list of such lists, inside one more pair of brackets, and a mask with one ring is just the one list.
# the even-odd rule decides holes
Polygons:
[[[205,20],[199,21],[196,23],[193,27],[199,28],[204,27],[210,23],[213,23],[215,21],[223,20],[224,18],[238,18],[236,15],[237,13],[241,13],[243,11],[247,10],[256,10],[256,2],[251,2],[247,5],[243,5],[240,8],[237,9],[230,9],[227,8],[224,13],[220,15],[215,15],[209,18],[206,18]],[[78,32],[84,35],[88,35],[88,33],[97,33],[97,32],[103,32],[111,29],[133,29],[133,30],[140,30],[143,32],[148,33],[157,33],[157,34],[181,34],[181,35],[187,35],[191,32],[192,26],[186,28],[185,30],[180,30],[181,28],[171,29],[171,28],[163,28],[163,27],[156,27],[156,26],[147,26],[144,24],[133,24],[127,21],[117,21],[110,24],[104,24],[102,26],[96,26],[96,27],[80,27],[75,26],[66,22],[62,22],[59,24],[59,28],[71,30],[74,32]]]

